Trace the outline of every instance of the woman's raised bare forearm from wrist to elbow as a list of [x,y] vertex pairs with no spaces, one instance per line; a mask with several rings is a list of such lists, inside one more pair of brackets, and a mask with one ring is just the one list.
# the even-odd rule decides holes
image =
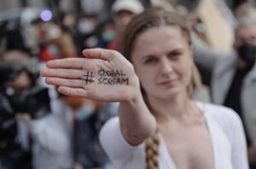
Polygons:
[[148,110],[141,93],[136,99],[120,103],[119,121],[121,132],[131,145],[141,144],[156,129],[154,115]]

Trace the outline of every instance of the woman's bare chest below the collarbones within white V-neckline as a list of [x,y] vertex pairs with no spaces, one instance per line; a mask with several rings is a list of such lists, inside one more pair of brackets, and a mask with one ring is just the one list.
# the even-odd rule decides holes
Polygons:
[[214,168],[212,140],[207,127],[173,127],[162,130],[161,137],[177,168]]

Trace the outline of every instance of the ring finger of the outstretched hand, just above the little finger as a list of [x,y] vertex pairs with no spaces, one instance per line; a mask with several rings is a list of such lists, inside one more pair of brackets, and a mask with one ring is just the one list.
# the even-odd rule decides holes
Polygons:
[[58,77],[47,77],[45,82],[54,86],[83,87],[84,81],[77,79],[63,79]]

